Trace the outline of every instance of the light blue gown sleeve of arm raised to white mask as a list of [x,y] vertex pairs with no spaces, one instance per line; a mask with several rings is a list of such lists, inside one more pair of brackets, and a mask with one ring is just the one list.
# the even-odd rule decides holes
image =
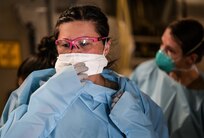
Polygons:
[[[6,127],[1,128],[1,138],[48,137],[65,110],[79,96],[81,86],[73,66],[55,74],[31,95],[27,107],[14,110]],[[16,119],[15,114],[19,114]]]

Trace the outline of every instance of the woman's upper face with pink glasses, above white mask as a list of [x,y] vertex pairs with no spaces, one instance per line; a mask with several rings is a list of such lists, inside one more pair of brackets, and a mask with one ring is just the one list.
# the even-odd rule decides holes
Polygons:
[[[58,54],[65,53],[89,53],[89,54],[107,54],[109,51],[109,46],[104,47],[102,41],[92,42],[92,38],[101,37],[95,29],[95,25],[90,21],[73,21],[68,23],[63,23],[59,26],[59,36],[58,40],[68,40],[71,42],[72,48],[70,46],[59,46],[57,45]],[[88,38],[88,39],[87,39]],[[89,38],[91,38],[89,40]],[[75,40],[75,41],[72,41]],[[70,43],[68,43],[70,44]],[[76,45],[80,46],[76,46]]]

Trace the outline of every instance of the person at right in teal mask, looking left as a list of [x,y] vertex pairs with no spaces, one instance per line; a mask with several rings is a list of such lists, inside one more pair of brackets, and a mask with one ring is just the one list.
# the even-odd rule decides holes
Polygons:
[[163,110],[172,138],[204,137],[204,30],[195,19],[172,22],[154,60],[139,65],[130,78]]

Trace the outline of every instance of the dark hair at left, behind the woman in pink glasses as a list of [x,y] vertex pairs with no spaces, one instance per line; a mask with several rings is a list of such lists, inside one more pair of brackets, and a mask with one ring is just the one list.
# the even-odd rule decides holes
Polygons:
[[27,57],[17,71],[17,82],[20,86],[27,76],[35,71],[53,68],[57,60],[57,49],[54,36],[45,36],[38,45],[37,53]]

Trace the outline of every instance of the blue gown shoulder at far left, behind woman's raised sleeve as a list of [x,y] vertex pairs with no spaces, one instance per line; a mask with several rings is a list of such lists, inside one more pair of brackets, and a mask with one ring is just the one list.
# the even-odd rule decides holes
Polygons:
[[33,71],[23,84],[11,93],[1,115],[0,127],[3,126],[10,113],[21,105],[28,105],[31,94],[40,87],[41,81],[47,81],[55,74],[53,68]]

